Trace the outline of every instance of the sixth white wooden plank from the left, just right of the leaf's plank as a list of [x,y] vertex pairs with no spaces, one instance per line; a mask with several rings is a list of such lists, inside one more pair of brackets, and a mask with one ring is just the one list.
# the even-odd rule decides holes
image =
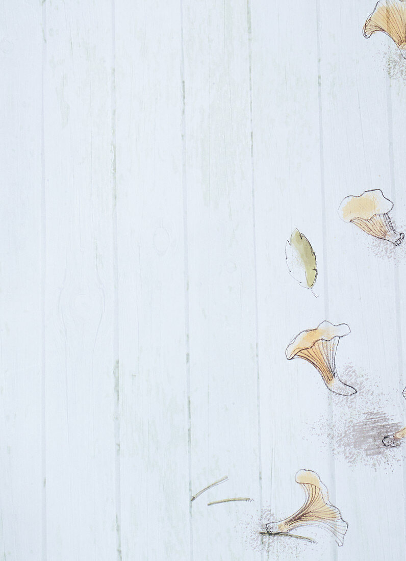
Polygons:
[[[364,421],[361,435],[385,431],[374,419],[384,416],[390,422],[399,414],[399,393],[393,398],[399,392],[395,275],[388,259],[396,248],[337,216],[347,195],[377,188],[391,195],[385,65],[373,53],[372,41],[362,36],[373,3],[358,2],[345,9],[338,4],[320,6],[330,309],[352,329],[347,362],[354,385],[359,384],[350,410],[344,404],[334,408],[335,424],[347,431],[347,446],[356,454],[355,462],[344,456],[336,459],[336,495],[350,523],[339,558],[400,559],[405,534],[403,468],[394,451],[382,447],[384,434],[371,436],[373,455],[362,458],[348,429]],[[373,493],[368,492],[371,481]],[[388,494],[387,489],[398,492]],[[389,547],[388,534],[393,536]]]

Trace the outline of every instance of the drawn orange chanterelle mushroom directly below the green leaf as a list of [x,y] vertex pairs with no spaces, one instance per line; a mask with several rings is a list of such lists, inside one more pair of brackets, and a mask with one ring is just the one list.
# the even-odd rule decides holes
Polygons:
[[339,380],[335,367],[338,342],[348,333],[350,329],[346,323],[334,325],[330,321],[322,321],[316,329],[304,330],[294,337],[286,350],[286,357],[288,360],[304,358],[319,370],[331,392],[351,396],[357,390]]

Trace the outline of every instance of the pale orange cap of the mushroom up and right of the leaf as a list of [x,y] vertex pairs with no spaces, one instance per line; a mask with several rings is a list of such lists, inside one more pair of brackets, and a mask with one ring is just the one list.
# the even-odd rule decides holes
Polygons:
[[338,214],[344,222],[351,222],[354,218],[368,220],[375,214],[385,214],[393,209],[393,203],[384,197],[380,189],[364,191],[362,195],[350,195],[340,204]]

